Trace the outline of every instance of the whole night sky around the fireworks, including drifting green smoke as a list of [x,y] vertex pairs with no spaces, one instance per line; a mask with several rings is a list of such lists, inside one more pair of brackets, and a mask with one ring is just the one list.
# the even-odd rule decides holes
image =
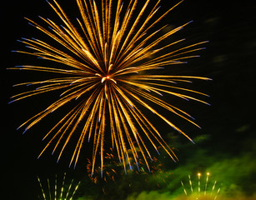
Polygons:
[[[78,9],[75,0],[58,2],[70,18],[80,18],[79,13],[76,13]],[[163,0],[161,5],[164,5],[164,10],[176,2],[178,1]],[[75,169],[68,168],[68,153],[59,163],[56,163],[58,155],[52,156],[51,151],[37,159],[45,145],[42,138],[58,117],[62,116],[60,113],[53,115],[53,118],[46,117],[25,134],[23,130],[16,130],[29,117],[47,107],[52,96],[39,95],[8,104],[11,96],[26,89],[13,87],[13,84],[47,77],[40,72],[6,70],[35,60],[34,57],[11,51],[24,50],[23,44],[17,42],[21,37],[45,38],[42,33],[29,26],[23,17],[40,22],[38,15],[53,21],[56,15],[43,0],[5,1],[2,9],[4,62],[1,74],[5,99],[2,102],[4,119],[1,135],[1,182],[2,195],[6,197],[4,199],[38,199],[41,192],[37,176],[43,180],[54,179],[55,174],[62,177],[65,172],[68,180],[74,178],[77,183],[81,181],[77,194],[79,199],[174,199],[180,192],[181,178],[198,171],[210,171],[214,180],[223,183],[223,197],[256,197],[255,1],[228,1],[225,4],[223,1],[186,0],[163,20],[163,23],[173,26],[193,20],[193,23],[175,35],[175,39],[186,37],[189,43],[209,41],[205,45],[207,48],[199,52],[201,57],[188,60],[186,65],[168,69],[169,73],[173,72],[175,75],[213,79],[208,82],[198,81],[191,86],[208,93],[210,97],[204,100],[211,106],[183,101],[179,105],[179,102],[175,102],[175,105],[191,113],[202,129],[194,128],[188,122],[178,121],[179,127],[196,142],[193,145],[171,128],[158,124],[163,137],[168,143],[172,142],[180,161],[173,163],[163,153],[158,158],[163,165],[161,173],[149,174],[145,178],[144,174],[133,172],[123,176],[116,175],[115,183],[111,180],[104,183],[101,180],[98,184],[92,183],[88,178],[86,166],[90,153],[81,155]],[[53,95],[53,99],[56,97]],[[118,169],[118,172],[121,171]],[[170,175],[165,178],[165,183],[158,183],[157,178],[161,179],[163,172]]]

